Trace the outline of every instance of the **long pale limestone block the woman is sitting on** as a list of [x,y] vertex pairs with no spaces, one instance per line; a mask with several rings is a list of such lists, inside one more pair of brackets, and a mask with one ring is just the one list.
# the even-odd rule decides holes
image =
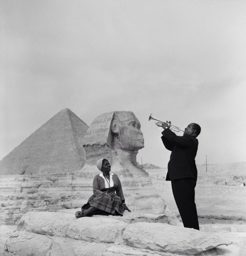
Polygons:
[[127,224],[119,218],[75,218],[75,214],[54,212],[29,212],[17,226],[38,234],[70,237],[77,240],[101,243],[122,242],[122,230]]

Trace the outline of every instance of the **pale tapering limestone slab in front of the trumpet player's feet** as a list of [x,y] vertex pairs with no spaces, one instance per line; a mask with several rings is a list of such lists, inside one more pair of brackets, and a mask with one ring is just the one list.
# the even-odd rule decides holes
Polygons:
[[231,244],[192,228],[156,223],[129,224],[124,230],[123,240],[136,248],[184,255],[195,255]]

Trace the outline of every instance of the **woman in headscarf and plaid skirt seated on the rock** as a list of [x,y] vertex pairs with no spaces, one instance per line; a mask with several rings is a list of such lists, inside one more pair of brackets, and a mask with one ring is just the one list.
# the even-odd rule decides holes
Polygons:
[[99,159],[96,163],[101,171],[93,179],[93,194],[84,204],[81,211],[75,213],[76,218],[92,216],[93,214],[121,215],[123,211],[130,212],[125,205],[121,181],[114,173],[110,173],[108,160]]

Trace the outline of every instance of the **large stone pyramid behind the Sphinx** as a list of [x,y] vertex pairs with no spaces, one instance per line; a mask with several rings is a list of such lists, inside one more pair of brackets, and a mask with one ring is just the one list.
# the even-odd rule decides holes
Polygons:
[[0,174],[66,173],[86,160],[82,139],[88,125],[65,108],[0,160]]

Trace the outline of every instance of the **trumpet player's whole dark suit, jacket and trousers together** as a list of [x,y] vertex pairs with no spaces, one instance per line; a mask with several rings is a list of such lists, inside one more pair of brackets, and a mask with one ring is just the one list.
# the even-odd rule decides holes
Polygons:
[[199,230],[195,205],[197,168],[195,157],[198,140],[189,135],[177,136],[169,128],[162,131],[162,142],[172,151],[168,162],[166,180],[172,183],[172,190],[184,227]]

